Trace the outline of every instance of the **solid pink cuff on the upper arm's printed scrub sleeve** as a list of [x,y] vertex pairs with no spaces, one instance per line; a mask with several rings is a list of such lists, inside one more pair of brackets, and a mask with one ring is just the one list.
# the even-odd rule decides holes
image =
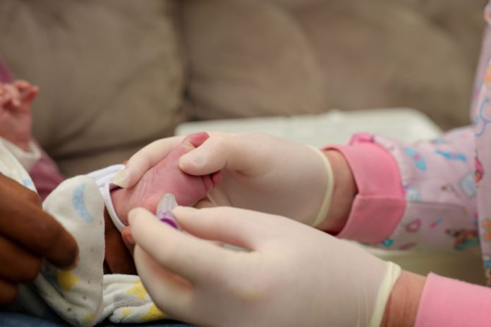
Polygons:
[[329,146],[346,158],[358,187],[348,221],[337,235],[359,242],[381,242],[392,234],[406,208],[395,159],[368,134],[347,146]]

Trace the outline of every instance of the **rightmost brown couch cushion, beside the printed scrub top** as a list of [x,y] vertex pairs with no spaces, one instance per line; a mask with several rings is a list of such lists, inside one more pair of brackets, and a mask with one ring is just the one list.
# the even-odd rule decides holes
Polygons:
[[447,129],[469,123],[487,0],[299,1],[329,107],[410,106]]

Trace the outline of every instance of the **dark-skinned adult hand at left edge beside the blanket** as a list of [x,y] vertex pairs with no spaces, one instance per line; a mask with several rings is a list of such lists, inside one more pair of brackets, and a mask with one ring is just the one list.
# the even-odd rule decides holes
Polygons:
[[71,269],[77,242],[42,210],[35,192],[0,173],[0,305],[15,300],[19,284],[34,280],[42,258]]

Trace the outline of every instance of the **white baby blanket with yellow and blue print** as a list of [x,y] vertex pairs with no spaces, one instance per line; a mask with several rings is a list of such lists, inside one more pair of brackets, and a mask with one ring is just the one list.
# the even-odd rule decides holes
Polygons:
[[[0,142],[0,173],[35,190],[28,173]],[[49,212],[77,240],[78,266],[62,271],[44,261],[34,290],[56,314],[73,326],[139,323],[166,317],[150,300],[138,276],[104,275],[104,199],[96,181],[78,176],[63,182],[44,201]],[[40,314],[37,295],[23,296],[21,306]]]

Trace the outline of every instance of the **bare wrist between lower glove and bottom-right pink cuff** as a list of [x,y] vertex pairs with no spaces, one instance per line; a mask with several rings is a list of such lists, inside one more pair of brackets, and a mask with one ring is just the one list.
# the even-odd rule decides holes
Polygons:
[[414,326],[425,281],[424,276],[402,271],[387,301],[382,327]]

